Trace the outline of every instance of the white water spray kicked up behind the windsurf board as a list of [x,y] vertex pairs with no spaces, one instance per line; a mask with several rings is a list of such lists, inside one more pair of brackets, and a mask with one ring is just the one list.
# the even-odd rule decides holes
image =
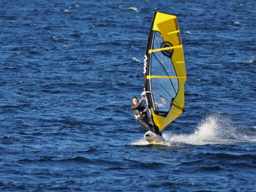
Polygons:
[[236,127],[228,116],[220,113],[208,115],[198,124],[194,133],[173,135],[171,132],[163,134],[170,143],[184,143],[191,145],[230,144],[235,142],[253,141],[255,136],[247,136],[243,130]]

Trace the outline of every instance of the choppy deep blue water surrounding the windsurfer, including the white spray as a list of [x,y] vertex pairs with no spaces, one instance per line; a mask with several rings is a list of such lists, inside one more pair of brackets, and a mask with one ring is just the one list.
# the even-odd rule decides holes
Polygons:
[[[149,145],[132,96],[176,15],[186,112]],[[1,191],[255,191],[255,1],[0,1]]]

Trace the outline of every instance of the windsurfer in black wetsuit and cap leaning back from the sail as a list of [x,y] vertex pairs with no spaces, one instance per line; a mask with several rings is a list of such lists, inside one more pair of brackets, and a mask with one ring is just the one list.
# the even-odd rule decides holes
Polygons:
[[[152,122],[148,119],[148,114],[146,112],[147,105],[142,104],[142,101],[145,100],[145,97],[142,97],[141,100],[138,102],[138,99],[136,96],[132,97],[132,106],[131,110],[135,118],[137,119],[138,123],[146,128],[148,131],[153,132],[153,125]],[[154,128],[156,134],[160,135],[162,137],[161,132],[159,132],[158,128]]]

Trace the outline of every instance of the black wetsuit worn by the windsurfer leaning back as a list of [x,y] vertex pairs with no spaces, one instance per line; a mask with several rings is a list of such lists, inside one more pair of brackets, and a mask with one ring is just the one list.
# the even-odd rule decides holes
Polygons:
[[151,121],[148,119],[147,112],[143,112],[147,105],[141,103],[142,100],[140,100],[140,102],[138,102],[136,105],[132,105],[132,113],[142,127],[146,128],[148,131],[152,131],[153,125]]

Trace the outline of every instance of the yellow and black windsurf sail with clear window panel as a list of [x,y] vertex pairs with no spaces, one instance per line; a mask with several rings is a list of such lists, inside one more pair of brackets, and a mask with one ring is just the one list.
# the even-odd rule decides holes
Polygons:
[[184,111],[185,61],[176,16],[154,12],[144,60],[144,92],[154,128]]

